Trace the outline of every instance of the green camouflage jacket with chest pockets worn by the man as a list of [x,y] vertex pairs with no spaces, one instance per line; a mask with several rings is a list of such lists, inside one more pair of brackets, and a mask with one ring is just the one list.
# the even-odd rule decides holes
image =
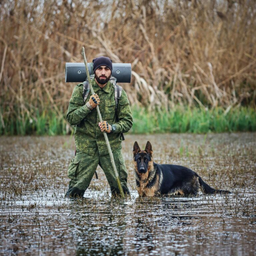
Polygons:
[[[100,98],[99,109],[103,121],[116,127],[115,131],[108,133],[109,144],[112,151],[121,149],[121,133],[128,132],[132,127],[132,113],[127,94],[122,90],[122,94],[117,107],[117,117],[115,115],[115,97],[114,85],[108,82],[101,89],[95,80],[92,80],[94,92]],[[86,99],[89,101],[91,91]],[[85,103],[86,103],[85,102]],[[89,154],[94,155],[98,148],[100,155],[108,154],[107,145],[98,123],[99,117],[96,108],[89,110],[83,100],[83,83],[75,86],[71,99],[69,101],[67,121],[70,125],[78,125],[75,129],[76,148]]]

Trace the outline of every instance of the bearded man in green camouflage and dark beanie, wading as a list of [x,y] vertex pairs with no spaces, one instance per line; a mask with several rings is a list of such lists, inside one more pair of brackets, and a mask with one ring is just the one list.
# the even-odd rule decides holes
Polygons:
[[[112,60],[98,57],[93,60],[94,79],[92,87],[95,94],[88,95],[84,104],[83,83],[76,85],[69,101],[67,120],[76,125],[76,155],[68,167],[70,178],[67,197],[82,197],[88,188],[98,166],[103,169],[112,195],[120,194],[114,175],[103,132],[108,133],[117,172],[125,194],[130,194],[127,186],[127,170],[121,152],[121,133],[132,127],[132,113],[127,94],[122,94],[117,106],[114,85],[109,82],[112,73]],[[96,106],[99,106],[102,119],[100,122]],[[115,113],[116,112],[116,113]]]

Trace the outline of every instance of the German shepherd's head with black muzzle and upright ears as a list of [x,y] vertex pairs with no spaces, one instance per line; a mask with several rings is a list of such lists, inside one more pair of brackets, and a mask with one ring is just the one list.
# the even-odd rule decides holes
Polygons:
[[153,163],[152,158],[153,150],[151,143],[148,141],[145,150],[140,150],[137,141],[133,145],[133,161],[138,174],[146,173]]

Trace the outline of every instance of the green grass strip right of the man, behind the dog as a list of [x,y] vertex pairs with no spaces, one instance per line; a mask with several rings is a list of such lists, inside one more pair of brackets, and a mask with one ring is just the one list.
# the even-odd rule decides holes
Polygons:
[[180,107],[148,111],[133,107],[134,123],[131,132],[141,133],[208,133],[256,131],[255,108],[239,107],[214,109]]

